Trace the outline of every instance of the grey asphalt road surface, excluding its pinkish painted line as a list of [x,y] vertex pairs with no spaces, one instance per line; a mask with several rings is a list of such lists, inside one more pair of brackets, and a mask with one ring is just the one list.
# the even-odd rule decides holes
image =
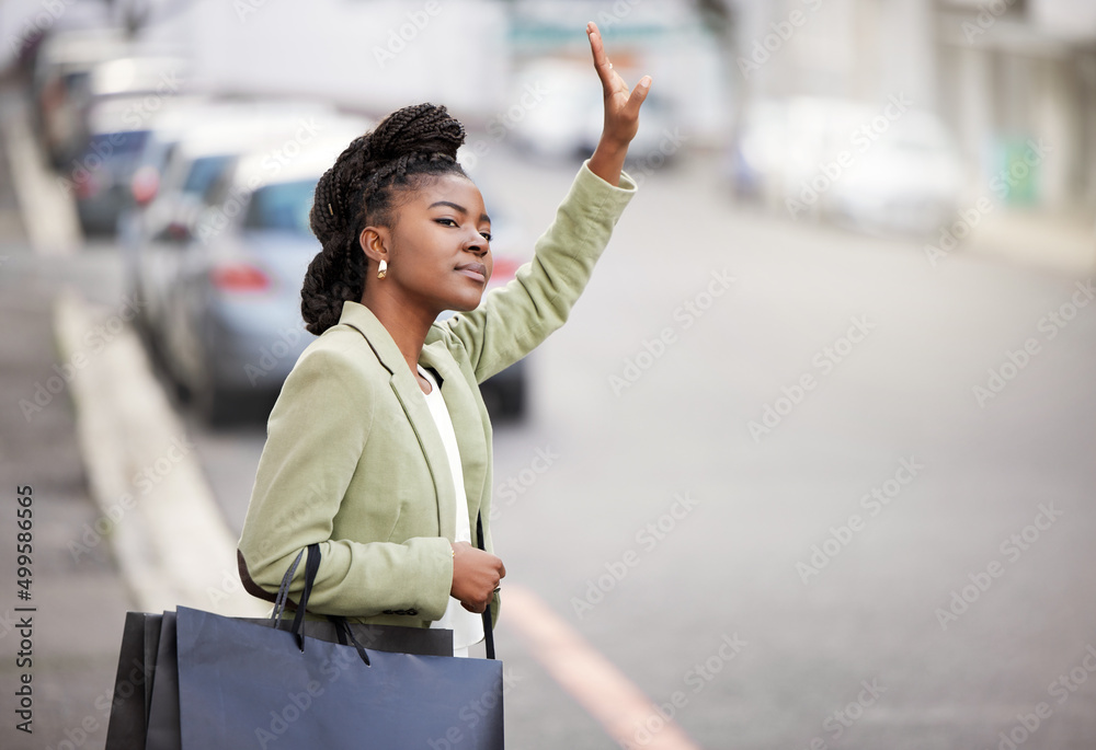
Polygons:
[[[530,231],[573,174],[489,169]],[[701,747],[1088,748],[1092,302],[735,207],[698,160],[653,172],[496,428],[507,581]],[[193,428],[238,530],[264,429]],[[499,639],[512,747],[618,745]]]

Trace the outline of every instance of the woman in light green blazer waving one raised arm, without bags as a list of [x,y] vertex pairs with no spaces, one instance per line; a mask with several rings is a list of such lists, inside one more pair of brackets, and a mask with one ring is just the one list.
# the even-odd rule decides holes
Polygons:
[[[644,77],[629,93],[586,27],[602,82],[601,140],[532,263],[480,304],[491,223],[455,157],[464,128],[430,104],[389,115],[320,180],[323,244],[301,312],[318,338],[271,412],[240,539],[248,590],[273,599],[318,542],[309,609],[356,622],[444,626],[456,654],[483,637],[505,567],[491,554],[491,425],[478,383],[563,324],[635,184],[621,174]],[[458,314],[436,323],[445,310]],[[475,539],[483,519],[483,546]],[[304,586],[298,572],[293,592]]]

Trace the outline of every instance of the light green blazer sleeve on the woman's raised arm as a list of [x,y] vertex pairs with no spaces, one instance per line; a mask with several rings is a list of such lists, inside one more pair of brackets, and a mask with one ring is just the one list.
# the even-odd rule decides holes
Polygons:
[[439,324],[465,349],[477,382],[513,365],[563,325],[635,193],[627,174],[610,185],[584,162],[555,221],[537,240],[533,259],[476,310]]

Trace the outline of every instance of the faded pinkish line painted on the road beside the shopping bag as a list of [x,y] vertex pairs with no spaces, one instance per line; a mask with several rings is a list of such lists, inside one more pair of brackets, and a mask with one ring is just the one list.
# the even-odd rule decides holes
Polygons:
[[662,728],[650,731],[644,748],[698,750],[681,727],[664,722],[651,700],[539,597],[516,584],[507,584],[504,596],[506,623],[529,642],[534,658],[601,722],[614,741],[621,747],[638,746],[637,730],[655,716]]

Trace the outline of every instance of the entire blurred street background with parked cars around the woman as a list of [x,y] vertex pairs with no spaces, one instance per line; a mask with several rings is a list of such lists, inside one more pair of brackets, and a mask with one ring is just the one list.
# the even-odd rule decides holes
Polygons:
[[446,104],[504,284],[597,142],[587,19],[653,83],[592,282],[483,388],[507,746],[1096,746],[1096,7],[39,4],[0,4],[0,749],[104,746],[126,611],[266,611],[316,181]]

